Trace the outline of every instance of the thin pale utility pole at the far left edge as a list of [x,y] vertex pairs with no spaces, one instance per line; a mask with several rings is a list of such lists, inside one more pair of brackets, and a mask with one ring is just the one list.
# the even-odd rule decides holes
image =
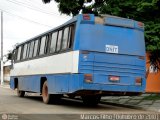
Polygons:
[[1,85],[3,83],[3,11],[1,11]]

